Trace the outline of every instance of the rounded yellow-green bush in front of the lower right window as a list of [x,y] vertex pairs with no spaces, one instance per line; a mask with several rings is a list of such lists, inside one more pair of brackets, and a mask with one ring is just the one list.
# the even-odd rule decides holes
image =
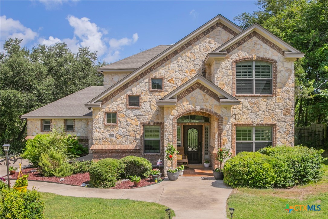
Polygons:
[[277,158],[258,152],[241,152],[223,168],[224,182],[232,187],[272,188],[290,186],[291,174]]

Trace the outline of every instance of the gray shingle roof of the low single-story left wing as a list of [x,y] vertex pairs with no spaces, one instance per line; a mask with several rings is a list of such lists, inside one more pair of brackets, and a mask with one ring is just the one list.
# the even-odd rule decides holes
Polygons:
[[87,87],[39,109],[26,113],[22,115],[21,118],[92,116],[92,110],[86,108],[84,104],[99,95],[102,91],[104,91],[104,87],[102,86]]

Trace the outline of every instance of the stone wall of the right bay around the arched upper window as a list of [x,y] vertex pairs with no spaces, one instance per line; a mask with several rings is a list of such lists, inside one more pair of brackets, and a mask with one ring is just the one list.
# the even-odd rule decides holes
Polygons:
[[[267,40],[253,34],[232,46],[224,60],[216,60],[211,68],[213,82],[235,95],[241,104],[232,107],[232,122],[253,125],[275,126],[276,144],[294,145],[294,61],[286,60],[281,54],[281,49],[273,46]],[[267,45],[268,44],[268,45]],[[227,50],[228,51],[228,50]],[[264,58],[264,59],[263,59]],[[235,60],[273,60],[274,89],[273,95],[244,95],[234,94]],[[276,74],[276,75],[275,75]],[[276,76],[276,78],[275,78]],[[229,133],[231,134],[231,133]],[[231,135],[226,147],[231,148],[235,136]],[[233,148],[235,152],[235,148]]]

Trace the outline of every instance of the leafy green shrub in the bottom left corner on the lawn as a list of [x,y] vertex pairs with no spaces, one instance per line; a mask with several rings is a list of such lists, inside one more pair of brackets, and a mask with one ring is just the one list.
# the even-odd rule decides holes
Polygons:
[[1,218],[44,218],[44,202],[36,190],[1,189]]

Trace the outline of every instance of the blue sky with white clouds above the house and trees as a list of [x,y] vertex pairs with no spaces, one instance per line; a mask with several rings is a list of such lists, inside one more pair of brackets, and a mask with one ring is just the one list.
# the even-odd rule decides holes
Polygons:
[[160,44],[172,44],[217,14],[229,20],[257,10],[254,1],[1,1],[1,50],[9,37],[38,43],[64,41],[118,61]]

